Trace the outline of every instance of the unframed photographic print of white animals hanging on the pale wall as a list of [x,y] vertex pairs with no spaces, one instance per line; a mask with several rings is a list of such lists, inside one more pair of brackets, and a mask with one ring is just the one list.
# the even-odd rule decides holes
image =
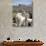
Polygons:
[[32,0],[12,0],[12,22],[14,27],[32,27]]

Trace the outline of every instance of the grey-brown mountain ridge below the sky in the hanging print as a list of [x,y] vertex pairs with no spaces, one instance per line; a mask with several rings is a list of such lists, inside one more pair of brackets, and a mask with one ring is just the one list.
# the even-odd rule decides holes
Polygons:
[[23,5],[23,4],[19,4],[18,6],[15,6],[15,5],[13,5],[13,11],[15,12],[15,11],[22,11],[22,9],[24,9],[25,11],[27,11],[27,12],[32,12],[32,5],[30,4],[30,5]]

